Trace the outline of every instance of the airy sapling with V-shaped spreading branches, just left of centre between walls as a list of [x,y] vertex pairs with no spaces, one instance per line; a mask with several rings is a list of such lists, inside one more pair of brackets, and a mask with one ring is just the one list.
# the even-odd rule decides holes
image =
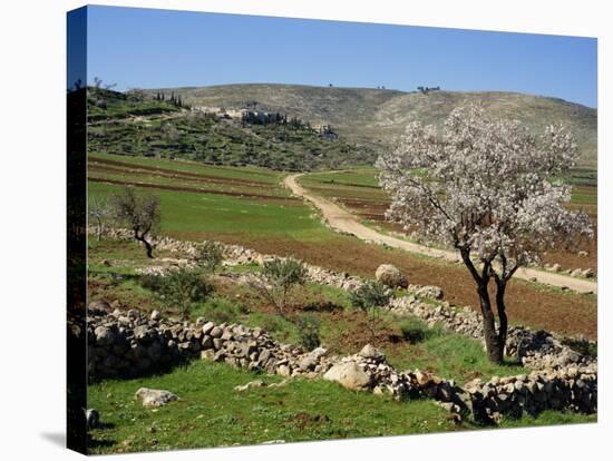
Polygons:
[[260,276],[251,286],[271,305],[284,320],[288,316],[288,303],[292,291],[306,282],[306,267],[293,257],[266,261]]

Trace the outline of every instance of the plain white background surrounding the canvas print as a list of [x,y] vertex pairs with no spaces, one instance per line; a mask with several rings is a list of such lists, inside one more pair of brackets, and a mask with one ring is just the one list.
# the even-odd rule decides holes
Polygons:
[[[607,1],[100,1],[137,6],[599,37],[597,424],[129,455],[140,459],[611,459],[612,18]],[[11,0],[0,16],[0,457],[76,459],[65,432],[66,11],[78,1]],[[609,28],[609,30],[607,30]],[[110,32],[110,31],[109,31]],[[609,112],[607,112],[609,110]],[[607,117],[609,116],[609,117]],[[607,341],[609,340],[609,341]],[[150,457],[150,458],[149,458]],[[115,459],[128,459],[117,455]]]

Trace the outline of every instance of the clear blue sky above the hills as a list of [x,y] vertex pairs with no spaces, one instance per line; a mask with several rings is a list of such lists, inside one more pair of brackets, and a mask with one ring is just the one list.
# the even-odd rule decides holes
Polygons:
[[502,90],[596,107],[596,39],[89,7],[88,79]]

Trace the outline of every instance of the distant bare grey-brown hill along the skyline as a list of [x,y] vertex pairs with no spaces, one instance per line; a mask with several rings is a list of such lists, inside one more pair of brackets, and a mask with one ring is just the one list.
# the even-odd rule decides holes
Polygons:
[[409,121],[440,125],[455,107],[479,102],[495,115],[520,120],[534,133],[552,122],[566,125],[577,140],[582,166],[596,166],[596,109],[557,98],[500,91],[422,94],[270,84],[145,90],[150,96],[157,91],[179,94],[192,106],[239,109],[256,104],[262,110],[332,125],[348,141],[374,148],[389,146]]

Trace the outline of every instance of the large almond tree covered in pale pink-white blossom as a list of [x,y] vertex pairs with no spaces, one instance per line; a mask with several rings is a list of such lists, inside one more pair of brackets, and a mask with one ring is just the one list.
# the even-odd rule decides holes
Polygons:
[[504,360],[505,290],[513,274],[555,244],[592,236],[587,216],[564,206],[571,188],[558,179],[576,160],[573,138],[562,127],[536,137],[470,105],[455,109],[441,134],[410,124],[377,161],[381,186],[392,196],[386,217],[459,251],[477,285],[492,362]]

